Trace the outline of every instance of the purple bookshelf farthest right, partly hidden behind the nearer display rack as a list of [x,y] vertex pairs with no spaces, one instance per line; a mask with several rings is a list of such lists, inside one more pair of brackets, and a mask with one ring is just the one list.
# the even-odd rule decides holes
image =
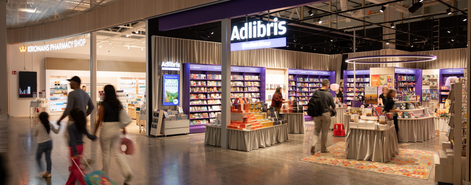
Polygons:
[[[434,89],[438,89],[439,91],[439,103],[445,103],[445,99],[447,99],[450,89],[445,86],[448,77],[464,77],[464,68],[448,68],[448,69],[439,69],[439,77],[438,86]],[[432,80],[430,80],[431,82]]]

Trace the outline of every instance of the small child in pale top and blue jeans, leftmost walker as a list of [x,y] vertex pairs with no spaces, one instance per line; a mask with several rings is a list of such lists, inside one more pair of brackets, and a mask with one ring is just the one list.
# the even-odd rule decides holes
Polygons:
[[33,136],[36,138],[36,143],[38,143],[38,150],[36,151],[36,162],[38,162],[39,167],[41,168],[41,155],[45,153],[44,158],[46,158],[46,171],[42,174],[42,177],[51,177],[51,150],[52,150],[52,139],[50,131],[54,133],[59,133],[59,128],[55,128],[53,125],[49,124],[49,115],[46,112],[41,112],[39,115],[40,124],[37,124],[34,127]]

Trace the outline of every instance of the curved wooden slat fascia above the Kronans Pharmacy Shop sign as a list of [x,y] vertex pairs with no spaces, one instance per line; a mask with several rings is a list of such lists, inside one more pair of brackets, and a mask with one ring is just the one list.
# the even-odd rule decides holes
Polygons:
[[7,44],[19,44],[97,31],[218,0],[123,0],[62,21],[7,31]]

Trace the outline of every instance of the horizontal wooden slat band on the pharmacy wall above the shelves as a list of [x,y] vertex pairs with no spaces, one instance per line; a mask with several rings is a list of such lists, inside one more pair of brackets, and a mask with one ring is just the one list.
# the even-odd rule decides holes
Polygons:
[[[89,59],[45,58],[46,69],[51,70],[90,70]],[[97,60],[97,71],[146,72],[146,62]]]

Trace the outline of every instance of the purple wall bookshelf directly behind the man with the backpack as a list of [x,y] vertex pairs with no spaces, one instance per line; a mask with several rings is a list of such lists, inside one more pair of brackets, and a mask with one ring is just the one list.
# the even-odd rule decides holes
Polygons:
[[[288,69],[288,100],[298,100],[298,105],[303,105],[307,110],[310,96],[321,87],[322,79],[329,79],[335,83],[335,71]],[[335,97],[335,92],[331,91]],[[312,117],[304,111],[304,120],[311,121]]]

